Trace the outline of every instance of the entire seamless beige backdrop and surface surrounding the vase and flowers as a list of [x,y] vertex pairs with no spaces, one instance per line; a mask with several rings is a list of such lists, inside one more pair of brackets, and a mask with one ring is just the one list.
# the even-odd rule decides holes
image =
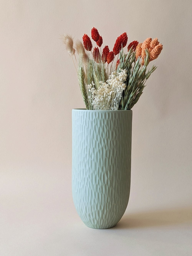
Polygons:
[[[191,255],[192,2],[0,1],[0,255]],[[71,193],[71,111],[84,107],[59,40],[95,26],[112,49],[158,37],[133,107],[131,194],[120,223],[87,228]]]

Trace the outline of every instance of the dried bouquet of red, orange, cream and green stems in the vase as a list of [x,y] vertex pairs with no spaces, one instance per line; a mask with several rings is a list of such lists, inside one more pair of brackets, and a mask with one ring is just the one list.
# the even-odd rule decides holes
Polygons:
[[156,70],[155,65],[148,70],[147,66],[159,56],[163,45],[157,38],[147,38],[143,43],[131,42],[124,53],[127,33],[116,39],[113,51],[107,45],[101,49],[103,39],[96,28],[91,30],[91,38],[96,43],[94,48],[87,34],[83,35],[83,42],[77,40],[75,43],[71,35],[62,36],[77,71],[86,109],[130,110]]

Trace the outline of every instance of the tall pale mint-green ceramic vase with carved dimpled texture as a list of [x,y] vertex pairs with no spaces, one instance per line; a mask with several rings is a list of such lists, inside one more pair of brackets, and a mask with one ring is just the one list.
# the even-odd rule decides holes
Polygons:
[[132,110],[72,110],[72,195],[92,228],[115,226],[129,201]]

